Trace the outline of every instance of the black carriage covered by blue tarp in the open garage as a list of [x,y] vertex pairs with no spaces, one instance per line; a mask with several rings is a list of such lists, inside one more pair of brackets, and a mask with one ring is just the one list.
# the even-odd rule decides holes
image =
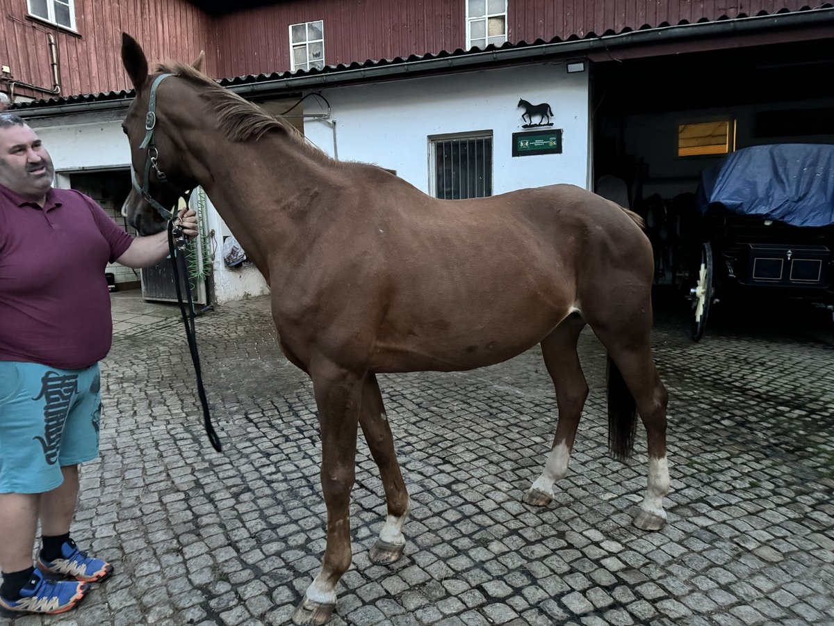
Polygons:
[[696,207],[693,340],[719,300],[803,300],[834,310],[834,145],[740,149],[704,170]]

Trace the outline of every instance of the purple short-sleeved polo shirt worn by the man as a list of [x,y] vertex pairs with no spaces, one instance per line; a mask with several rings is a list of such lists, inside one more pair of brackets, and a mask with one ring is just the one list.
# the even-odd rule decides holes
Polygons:
[[0,361],[101,361],[113,341],[104,268],[132,241],[78,191],[51,189],[42,209],[0,184]]

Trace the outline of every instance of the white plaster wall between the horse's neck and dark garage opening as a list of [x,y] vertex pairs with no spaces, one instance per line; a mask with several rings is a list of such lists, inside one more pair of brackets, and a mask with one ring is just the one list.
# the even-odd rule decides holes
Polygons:
[[[588,187],[588,73],[568,74],[564,63],[392,80],[322,93],[336,124],[339,159],[395,169],[426,193],[429,136],[482,130],[493,133],[493,194],[554,183]],[[524,111],[516,106],[519,98],[550,103],[550,128],[564,129],[562,154],[512,156],[512,134],[525,130]],[[305,113],[319,110],[310,105]],[[329,124],[307,119],[304,134],[334,155]]]

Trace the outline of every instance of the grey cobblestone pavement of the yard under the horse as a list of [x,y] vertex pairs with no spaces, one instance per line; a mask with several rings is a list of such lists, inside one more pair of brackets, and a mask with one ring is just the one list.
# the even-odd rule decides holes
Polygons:
[[[288,623],[321,562],[325,509],[312,387],[280,355],[268,310],[258,298],[197,321],[223,453],[203,432],[177,319],[118,332],[102,457],[84,468],[73,527],[116,573],[72,612],[15,626]],[[604,353],[589,331],[575,454],[541,509],[520,502],[555,429],[538,350],[380,376],[413,499],[409,542],[399,563],[369,563],[384,501],[360,436],[354,563],[331,623],[834,623],[830,322],[719,319],[695,344],[677,310],[656,317],[671,395],[666,528],[631,526],[646,456],[605,454]]]

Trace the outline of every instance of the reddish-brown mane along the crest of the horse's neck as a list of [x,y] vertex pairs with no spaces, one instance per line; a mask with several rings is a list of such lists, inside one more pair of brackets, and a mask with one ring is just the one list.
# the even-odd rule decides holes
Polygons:
[[304,135],[299,133],[294,126],[264,112],[237,93],[221,87],[190,65],[177,62],[159,63],[156,71],[176,74],[189,83],[202,87],[200,97],[214,109],[218,116],[219,130],[230,141],[236,143],[258,141],[264,134],[277,131],[286,134],[289,140],[309,150],[311,154],[319,154],[323,160],[330,160],[321,150],[311,148],[306,143]]

